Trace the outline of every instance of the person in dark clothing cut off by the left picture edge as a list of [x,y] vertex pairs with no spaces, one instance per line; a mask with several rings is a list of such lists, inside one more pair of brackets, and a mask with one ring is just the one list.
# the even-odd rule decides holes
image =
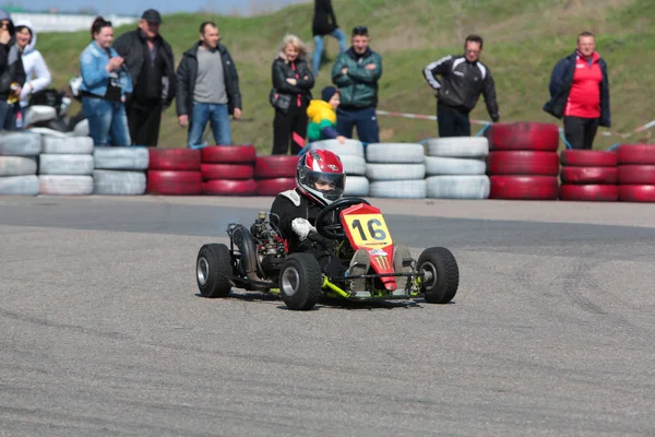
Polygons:
[[[25,84],[23,60],[9,12],[0,9],[0,130],[13,129],[14,107]],[[8,102],[12,97],[14,103]]]

